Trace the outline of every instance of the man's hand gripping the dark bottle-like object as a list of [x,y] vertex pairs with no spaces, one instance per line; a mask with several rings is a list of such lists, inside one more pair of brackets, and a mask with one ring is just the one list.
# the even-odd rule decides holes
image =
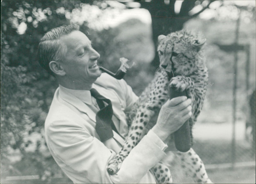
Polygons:
[[161,108],[152,131],[164,141],[178,130],[192,115],[191,99],[179,96],[168,100]]

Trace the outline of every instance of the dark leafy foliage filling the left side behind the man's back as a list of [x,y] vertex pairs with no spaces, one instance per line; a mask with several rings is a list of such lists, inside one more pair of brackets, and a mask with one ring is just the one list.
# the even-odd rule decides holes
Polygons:
[[[109,11],[104,2],[100,6],[97,3],[1,2],[1,178],[34,174],[42,182],[51,182],[54,175],[61,173],[44,140],[44,120],[58,84],[37,63],[37,47],[44,33],[63,24],[78,23],[85,33],[93,33],[87,24],[95,22],[98,16],[87,16],[82,22],[77,17],[90,8],[96,8],[100,16],[102,10]],[[95,34],[94,38],[100,37]],[[106,43],[107,35],[96,42]],[[24,164],[34,169],[27,173]]]

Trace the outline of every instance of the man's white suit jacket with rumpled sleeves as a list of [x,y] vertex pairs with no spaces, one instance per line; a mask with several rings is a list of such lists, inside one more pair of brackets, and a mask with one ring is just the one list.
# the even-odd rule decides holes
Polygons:
[[[115,122],[116,128],[124,135],[127,131],[124,111],[138,97],[124,80],[106,73],[92,87],[111,100],[114,115],[120,120]],[[124,159],[119,172],[110,176],[106,169],[108,161],[121,150],[124,139],[113,131],[113,138],[100,142],[95,130],[96,112],[65,89],[57,88],[45,120],[47,146],[63,172],[74,183],[156,183],[149,169],[165,156],[164,142],[149,131]]]

